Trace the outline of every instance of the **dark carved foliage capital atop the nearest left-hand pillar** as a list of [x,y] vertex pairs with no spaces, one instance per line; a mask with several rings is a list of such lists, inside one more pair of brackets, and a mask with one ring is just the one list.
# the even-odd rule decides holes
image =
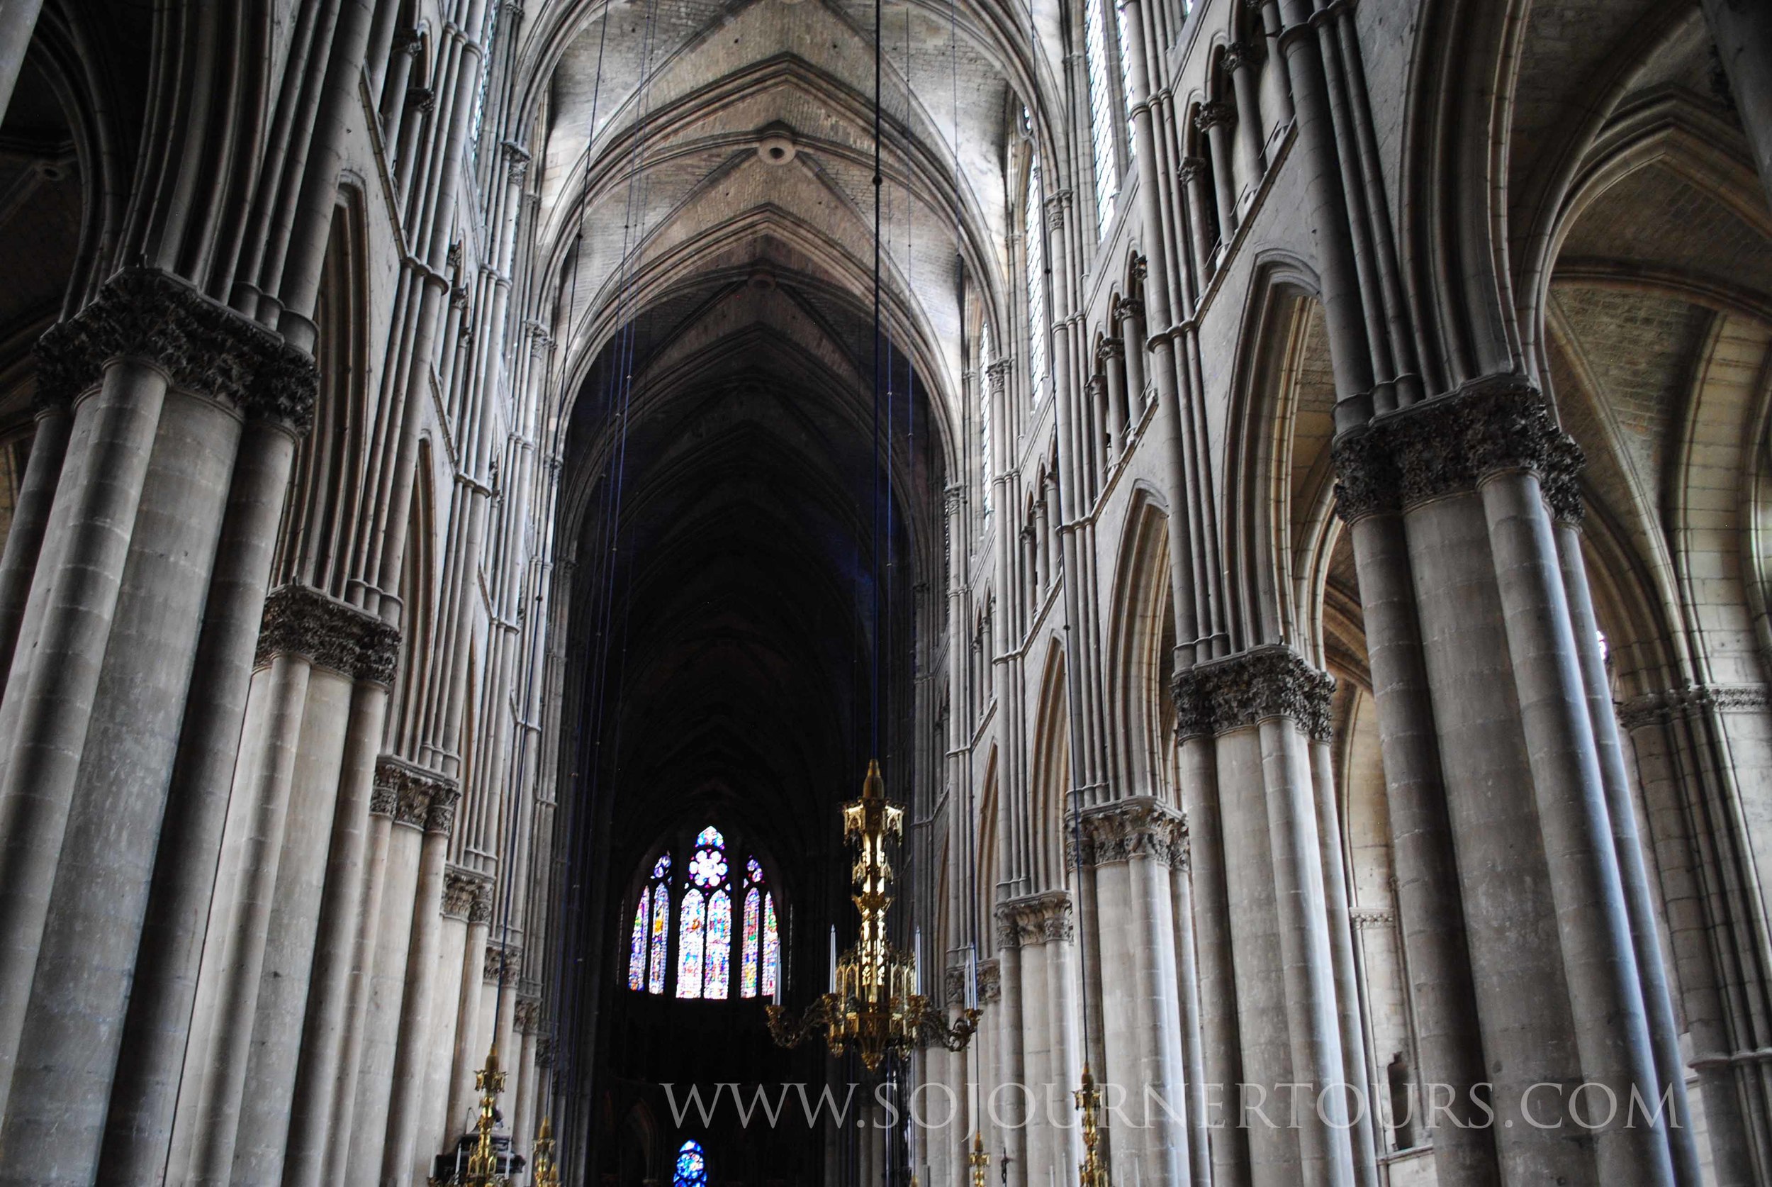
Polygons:
[[154,268],[112,276],[90,305],[44,331],[35,354],[41,406],[90,392],[112,360],[138,358],[175,388],[291,432],[314,423],[319,370],[307,351]]

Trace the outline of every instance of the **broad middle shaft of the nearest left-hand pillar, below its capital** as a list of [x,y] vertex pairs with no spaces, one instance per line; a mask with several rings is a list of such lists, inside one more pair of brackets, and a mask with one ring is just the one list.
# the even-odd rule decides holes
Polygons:
[[237,439],[232,409],[167,395],[37,953],[0,1180],[90,1182],[97,1166]]

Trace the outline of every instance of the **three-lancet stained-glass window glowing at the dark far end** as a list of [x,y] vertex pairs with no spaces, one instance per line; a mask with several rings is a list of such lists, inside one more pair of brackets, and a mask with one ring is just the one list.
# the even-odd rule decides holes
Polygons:
[[709,826],[695,834],[680,881],[673,870],[672,854],[659,856],[640,889],[627,989],[725,1001],[734,990],[737,925],[737,996],[773,996],[781,978],[781,941],[762,863],[746,857],[737,866],[728,859],[727,838]]

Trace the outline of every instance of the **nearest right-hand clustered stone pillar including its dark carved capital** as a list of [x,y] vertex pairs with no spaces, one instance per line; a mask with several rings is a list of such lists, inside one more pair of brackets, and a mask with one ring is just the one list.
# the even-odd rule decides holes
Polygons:
[[[1671,1182],[1659,1125],[1616,1121],[1586,1148],[1533,1123],[1506,1125],[1535,1082],[1597,1081],[1618,1100],[1632,1090],[1653,1098],[1655,1086],[1613,826],[1538,478],[1566,468],[1574,445],[1535,390],[1503,376],[1375,418],[1336,448],[1356,462],[1340,466],[1341,501],[1354,514],[1364,507],[1405,516],[1446,799],[1460,836],[1487,1079],[1501,1114],[1490,1136],[1503,1175]],[[1547,930],[1558,935],[1554,948],[1538,939]],[[1522,999],[1522,981],[1542,989]],[[1566,1097],[1559,1104],[1568,1109]]]

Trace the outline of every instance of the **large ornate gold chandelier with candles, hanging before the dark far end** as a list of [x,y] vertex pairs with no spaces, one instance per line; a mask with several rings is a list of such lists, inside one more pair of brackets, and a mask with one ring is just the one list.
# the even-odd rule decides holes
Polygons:
[[790,1019],[780,1005],[769,1006],[769,1033],[781,1047],[797,1047],[824,1036],[833,1056],[851,1047],[870,1070],[879,1070],[888,1052],[905,1054],[921,1043],[941,1043],[962,1051],[978,1028],[978,1010],[968,1008],[952,1026],[921,992],[916,978],[916,953],[905,953],[886,939],[886,911],[891,907],[891,861],[888,840],[904,836],[904,808],[888,803],[879,762],[868,762],[861,799],[843,804],[843,840],[856,840],[854,904],[861,914],[861,932],[849,951],[836,957],[831,939],[831,990]]

